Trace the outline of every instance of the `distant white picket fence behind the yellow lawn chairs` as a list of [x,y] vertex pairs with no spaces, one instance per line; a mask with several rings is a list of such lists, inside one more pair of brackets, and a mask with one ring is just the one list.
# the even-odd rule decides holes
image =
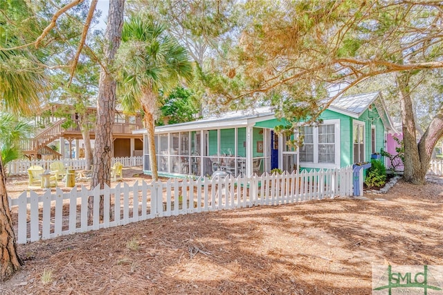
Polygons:
[[[51,163],[55,161],[61,161],[65,167],[71,166],[74,170],[84,170],[86,169],[85,159],[63,159],[63,160],[33,160],[33,161],[23,161],[16,160],[8,163],[6,168],[6,173],[8,175],[26,175],[28,174],[28,168],[30,166],[42,166],[45,170],[49,170]],[[112,158],[112,165],[116,162],[123,164],[123,167],[134,167],[143,166],[143,156],[140,157],[116,157]]]

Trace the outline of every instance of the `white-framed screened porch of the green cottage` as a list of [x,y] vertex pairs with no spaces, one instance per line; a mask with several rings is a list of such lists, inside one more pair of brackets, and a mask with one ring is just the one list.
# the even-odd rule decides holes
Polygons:
[[[262,107],[225,113],[222,117],[156,127],[159,175],[211,176],[217,170],[224,170],[234,177],[249,177],[278,167],[292,171],[298,167],[298,152],[284,145],[282,163],[279,165],[278,147],[289,138],[279,138],[273,132],[274,125],[266,125],[268,121],[275,124],[275,120],[271,109]],[[145,130],[136,132],[145,133]],[[147,134],[143,141],[143,172],[150,174]]]

